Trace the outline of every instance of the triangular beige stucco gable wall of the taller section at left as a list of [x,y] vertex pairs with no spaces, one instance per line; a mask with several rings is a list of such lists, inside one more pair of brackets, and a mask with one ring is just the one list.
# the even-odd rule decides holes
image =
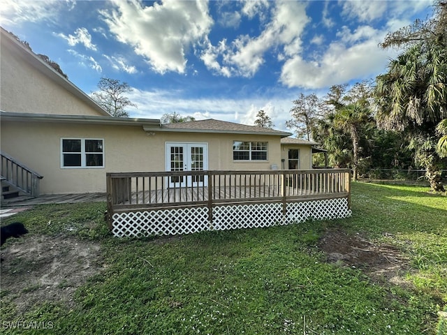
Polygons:
[[31,66],[23,57],[24,51],[19,50],[7,38],[1,39],[0,110],[36,114],[103,115]]

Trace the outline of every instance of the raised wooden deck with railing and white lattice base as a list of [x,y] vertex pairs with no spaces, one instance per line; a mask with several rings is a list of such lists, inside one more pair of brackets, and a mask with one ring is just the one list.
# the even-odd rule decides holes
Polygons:
[[265,227],[351,215],[350,170],[107,174],[115,236]]

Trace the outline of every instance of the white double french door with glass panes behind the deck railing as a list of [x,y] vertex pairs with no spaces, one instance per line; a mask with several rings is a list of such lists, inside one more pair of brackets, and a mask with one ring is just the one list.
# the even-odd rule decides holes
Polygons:
[[[166,171],[208,169],[207,143],[166,143]],[[169,187],[207,186],[206,176],[171,176]]]

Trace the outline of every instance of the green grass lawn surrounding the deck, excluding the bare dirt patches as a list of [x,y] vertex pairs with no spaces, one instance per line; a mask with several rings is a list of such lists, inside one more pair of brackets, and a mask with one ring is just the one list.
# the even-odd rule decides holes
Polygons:
[[[33,236],[70,237],[98,244],[100,264],[73,291],[72,304],[46,299],[21,311],[17,300],[41,284],[22,295],[2,288],[2,332],[443,334],[447,326],[439,325],[438,311],[447,305],[447,198],[426,191],[353,183],[353,216],[344,220],[152,239],[111,237],[103,203],[41,205],[2,223],[22,221],[30,231],[2,251],[25,247]],[[409,260],[402,283],[326,262],[318,241],[336,227],[396,246]],[[6,262],[2,277],[27,276],[20,258]],[[17,320],[51,329],[10,327]]]

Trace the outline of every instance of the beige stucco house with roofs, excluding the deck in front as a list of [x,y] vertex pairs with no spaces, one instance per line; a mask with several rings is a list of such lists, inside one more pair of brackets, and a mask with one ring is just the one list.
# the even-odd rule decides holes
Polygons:
[[111,117],[4,29],[0,40],[1,153],[43,176],[40,193],[105,192],[106,172],[312,168],[316,143],[284,131]]

